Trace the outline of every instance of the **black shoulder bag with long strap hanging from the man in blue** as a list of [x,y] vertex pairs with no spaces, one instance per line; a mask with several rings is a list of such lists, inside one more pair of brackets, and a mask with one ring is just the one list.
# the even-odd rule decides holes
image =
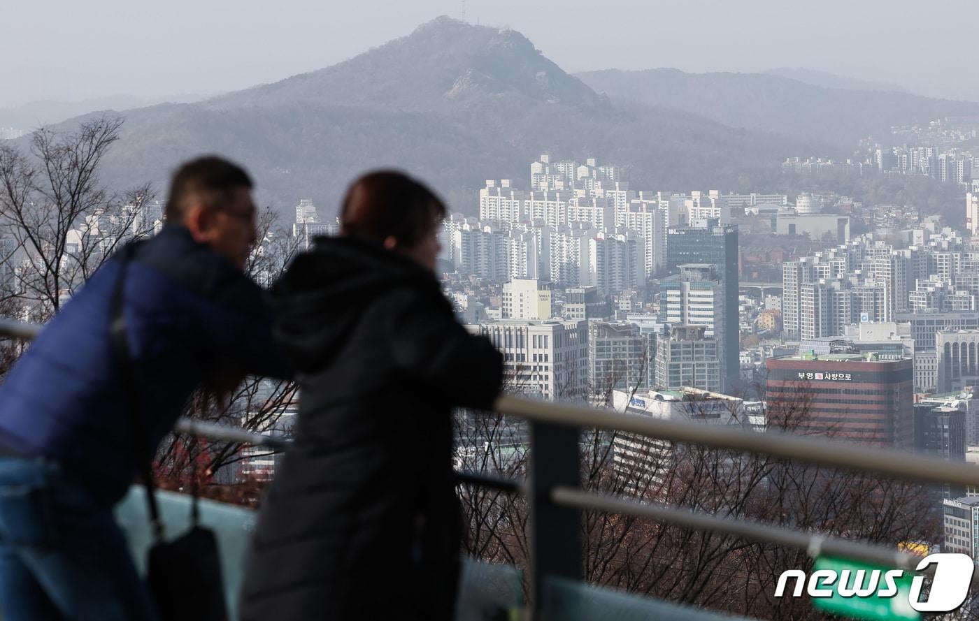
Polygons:
[[149,444],[149,424],[139,408],[137,380],[133,374],[123,313],[125,272],[137,244],[127,244],[117,255],[119,276],[113,291],[110,335],[116,366],[132,419],[140,474],[146,485],[146,505],[153,529],[153,546],[147,563],[147,585],[161,621],[223,621],[228,618],[221,578],[220,554],[214,532],[198,524],[197,488],[191,502],[191,527],[172,541],[163,539],[163,521],[157,506],[153,477],[155,447]]

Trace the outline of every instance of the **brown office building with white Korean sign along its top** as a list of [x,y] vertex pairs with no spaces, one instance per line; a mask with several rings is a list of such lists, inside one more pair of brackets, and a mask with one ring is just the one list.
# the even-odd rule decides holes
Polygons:
[[[866,354],[769,358],[769,425],[798,417],[798,433],[819,433],[879,447],[914,446],[911,360]],[[802,414],[802,410],[808,410]]]

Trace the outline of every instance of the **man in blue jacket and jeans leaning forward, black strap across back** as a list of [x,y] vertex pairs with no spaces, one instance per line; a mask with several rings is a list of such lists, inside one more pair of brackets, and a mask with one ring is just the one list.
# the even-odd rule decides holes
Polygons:
[[[231,162],[184,164],[161,233],[108,261],[0,387],[4,621],[155,618],[113,506],[196,387],[288,373],[262,291],[243,273],[256,242],[251,191]],[[142,438],[110,333],[119,282]]]

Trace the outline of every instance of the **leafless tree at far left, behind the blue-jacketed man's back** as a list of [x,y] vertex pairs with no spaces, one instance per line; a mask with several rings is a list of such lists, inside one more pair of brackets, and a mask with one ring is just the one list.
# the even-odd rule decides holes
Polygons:
[[0,146],[0,232],[21,259],[17,292],[34,320],[57,312],[120,244],[149,233],[134,225],[152,188],[112,193],[98,175],[122,122],[107,115],[72,131],[43,127],[27,153]]

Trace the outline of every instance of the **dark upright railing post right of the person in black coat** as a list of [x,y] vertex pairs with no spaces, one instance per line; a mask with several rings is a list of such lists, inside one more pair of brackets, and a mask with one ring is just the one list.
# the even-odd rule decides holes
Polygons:
[[548,576],[582,579],[582,511],[551,501],[557,486],[579,488],[580,429],[531,421],[528,507],[531,528],[530,596],[534,621],[542,621]]

